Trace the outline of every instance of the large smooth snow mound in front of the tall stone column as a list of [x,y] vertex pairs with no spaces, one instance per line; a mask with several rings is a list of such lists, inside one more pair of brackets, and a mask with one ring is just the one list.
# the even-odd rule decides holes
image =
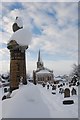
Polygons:
[[14,91],[11,99],[3,101],[4,118],[46,118],[49,109],[43,102],[35,85],[28,84]]

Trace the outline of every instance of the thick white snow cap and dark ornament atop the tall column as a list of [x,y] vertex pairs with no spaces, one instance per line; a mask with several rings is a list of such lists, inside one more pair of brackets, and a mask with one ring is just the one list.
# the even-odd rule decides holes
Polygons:
[[21,18],[16,17],[12,28],[14,33],[9,41],[15,40],[20,46],[30,44],[32,39],[31,31],[29,30],[29,28],[23,28],[23,22]]

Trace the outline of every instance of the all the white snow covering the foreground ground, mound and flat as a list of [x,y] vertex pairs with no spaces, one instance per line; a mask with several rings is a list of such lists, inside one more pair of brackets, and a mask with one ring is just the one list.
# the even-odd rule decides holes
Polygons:
[[71,96],[72,105],[63,105],[63,94],[41,85],[21,85],[10,99],[3,101],[3,118],[78,118],[78,95]]

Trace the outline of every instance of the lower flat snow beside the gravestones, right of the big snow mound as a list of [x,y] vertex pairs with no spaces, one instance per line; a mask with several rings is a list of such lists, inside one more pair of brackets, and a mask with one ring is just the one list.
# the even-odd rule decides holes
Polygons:
[[[51,94],[51,89],[47,90],[38,85],[38,89],[41,92],[43,101],[49,108],[51,118],[78,118],[78,96],[72,96],[75,99],[75,104],[73,105],[63,105],[63,95],[59,94],[58,91],[56,95]],[[43,90],[42,90],[43,89]]]

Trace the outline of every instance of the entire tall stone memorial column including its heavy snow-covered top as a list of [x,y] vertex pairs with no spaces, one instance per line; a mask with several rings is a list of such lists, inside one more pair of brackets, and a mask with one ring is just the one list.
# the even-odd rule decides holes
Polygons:
[[20,77],[23,77],[23,84],[26,80],[26,57],[25,52],[31,42],[32,34],[29,28],[24,28],[22,19],[16,17],[12,26],[13,35],[10,38],[7,48],[10,50],[10,90],[19,88]]

